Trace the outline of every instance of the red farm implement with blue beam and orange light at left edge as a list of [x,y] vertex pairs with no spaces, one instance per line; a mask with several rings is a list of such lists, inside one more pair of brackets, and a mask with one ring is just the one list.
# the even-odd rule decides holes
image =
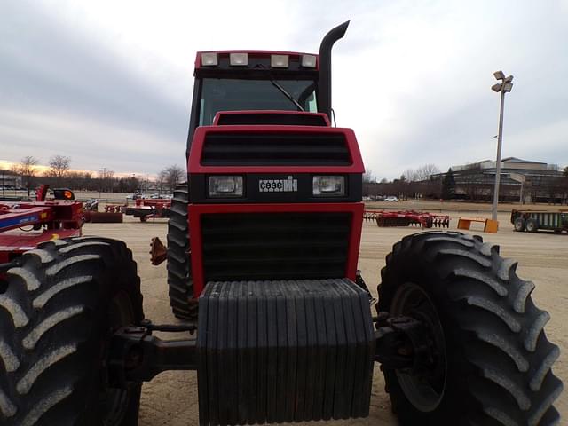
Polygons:
[[0,201],[0,264],[44,241],[81,235],[83,203],[65,189],[54,190],[55,199],[47,201],[47,189],[37,190],[36,201]]

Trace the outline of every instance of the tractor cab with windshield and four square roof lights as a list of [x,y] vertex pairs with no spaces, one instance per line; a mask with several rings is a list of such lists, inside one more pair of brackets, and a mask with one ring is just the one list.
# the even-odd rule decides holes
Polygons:
[[208,51],[195,59],[193,104],[199,126],[221,111],[318,112],[318,56],[289,52]]

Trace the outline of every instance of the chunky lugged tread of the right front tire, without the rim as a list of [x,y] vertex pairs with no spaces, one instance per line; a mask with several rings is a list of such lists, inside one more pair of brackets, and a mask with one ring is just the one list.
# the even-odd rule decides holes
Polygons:
[[[417,272],[406,273],[412,261],[420,264],[410,268]],[[471,383],[461,395],[468,399],[469,411],[464,409],[467,419],[461,421],[538,426],[559,418],[553,404],[563,385],[551,371],[559,349],[544,332],[550,317],[533,304],[534,284],[518,278],[516,270],[517,263],[503,259],[498,246],[467,234],[429,232],[395,244],[381,272],[379,312],[389,312],[397,282],[411,280],[414,273],[430,277],[428,285],[441,300],[441,310],[452,319],[445,334],[455,342],[449,344],[467,358],[469,376],[460,380]],[[385,376],[393,409],[402,413],[401,424],[414,424],[409,419],[416,414],[408,414],[412,410],[406,409],[410,403],[404,392],[392,391],[394,374]],[[461,424],[459,419],[445,420]]]

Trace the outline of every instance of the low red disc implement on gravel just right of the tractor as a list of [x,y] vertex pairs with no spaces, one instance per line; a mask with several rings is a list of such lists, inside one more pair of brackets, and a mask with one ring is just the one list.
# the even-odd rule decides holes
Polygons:
[[375,221],[380,227],[388,226],[421,226],[422,228],[447,228],[450,226],[450,217],[447,215],[434,215],[423,211],[404,210],[371,210],[366,209],[364,220]]

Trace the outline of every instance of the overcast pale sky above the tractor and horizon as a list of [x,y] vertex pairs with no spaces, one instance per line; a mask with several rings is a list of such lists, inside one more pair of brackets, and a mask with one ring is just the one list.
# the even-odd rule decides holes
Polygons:
[[335,44],[337,125],[377,178],[503,156],[568,165],[568,0],[0,0],[0,161],[153,175],[185,162],[198,50]]

